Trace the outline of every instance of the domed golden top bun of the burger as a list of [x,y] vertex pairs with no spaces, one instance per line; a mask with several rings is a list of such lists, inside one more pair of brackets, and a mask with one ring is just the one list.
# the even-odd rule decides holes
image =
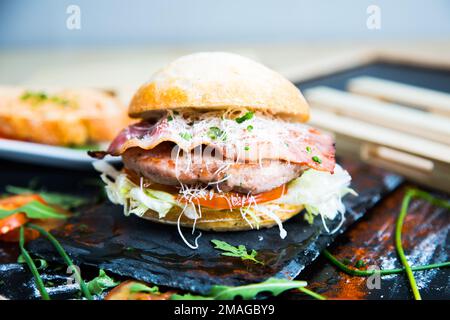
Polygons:
[[129,115],[152,117],[164,109],[248,108],[307,121],[309,106],[286,78],[242,56],[201,52],[183,56],[153,75],[134,95]]

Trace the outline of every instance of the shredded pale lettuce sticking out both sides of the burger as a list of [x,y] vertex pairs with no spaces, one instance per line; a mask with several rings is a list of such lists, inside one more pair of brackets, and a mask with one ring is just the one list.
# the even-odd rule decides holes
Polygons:
[[[188,218],[198,218],[195,205],[181,204],[170,193],[138,186],[130,181],[126,174],[117,171],[105,161],[95,162],[94,168],[101,172],[101,178],[106,184],[108,198],[115,204],[123,205],[125,215],[133,213],[143,216],[147,210],[151,209],[159,214],[159,218],[163,218],[172,207],[179,206]],[[329,231],[325,219],[333,220],[340,214],[342,223],[345,213],[342,198],[348,193],[356,195],[349,188],[350,182],[350,175],[339,165],[336,165],[333,174],[309,169],[289,183],[287,193],[281,198],[258,204],[255,208],[245,208],[244,211],[241,211],[241,214],[243,216],[249,214],[258,228],[259,219],[252,209],[265,213],[277,222],[280,228],[280,236],[284,238],[286,231],[281,221],[277,221],[278,217],[271,213],[280,209],[283,204],[303,205],[306,210],[305,219],[312,223],[316,216],[320,216],[325,229]]]

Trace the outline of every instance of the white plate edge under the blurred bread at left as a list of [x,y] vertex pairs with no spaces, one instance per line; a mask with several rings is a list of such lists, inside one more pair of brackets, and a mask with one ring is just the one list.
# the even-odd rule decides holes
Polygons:
[[[0,158],[70,169],[92,169],[95,161],[86,150],[9,139],[0,139]],[[107,156],[105,160],[119,162],[120,157]]]

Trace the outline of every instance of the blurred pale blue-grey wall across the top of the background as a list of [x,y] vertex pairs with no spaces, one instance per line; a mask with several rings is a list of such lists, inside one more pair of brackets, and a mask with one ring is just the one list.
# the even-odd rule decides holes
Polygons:
[[[71,4],[80,30],[66,28]],[[0,0],[0,47],[450,39],[449,21],[448,0]]]

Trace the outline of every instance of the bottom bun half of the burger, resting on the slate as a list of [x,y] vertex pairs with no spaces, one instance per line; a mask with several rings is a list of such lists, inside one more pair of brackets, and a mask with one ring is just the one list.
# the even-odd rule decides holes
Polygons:
[[[272,213],[275,214],[281,221],[286,221],[293,216],[297,215],[303,210],[303,206],[295,205],[285,205],[277,204],[279,208],[273,210]],[[256,224],[255,220],[247,215],[244,219],[241,215],[240,210],[214,210],[210,208],[202,208],[202,217],[198,218],[197,221],[186,217],[182,214],[182,209],[180,207],[173,207],[164,218],[159,218],[158,213],[152,210],[148,210],[142,218],[151,220],[158,223],[164,224],[174,224],[178,223],[180,218],[180,225],[183,227],[192,228],[195,223],[195,228],[205,231],[242,231],[251,230],[259,228],[270,228],[277,223],[267,214],[252,208],[255,212],[255,216],[258,217],[259,223]]]

